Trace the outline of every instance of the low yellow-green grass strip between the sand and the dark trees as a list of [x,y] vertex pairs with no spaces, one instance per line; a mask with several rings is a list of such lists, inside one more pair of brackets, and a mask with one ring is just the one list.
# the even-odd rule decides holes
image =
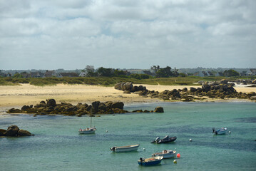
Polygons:
[[34,86],[54,86],[56,84],[78,84],[114,86],[116,83],[130,81],[134,84],[162,85],[162,86],[193,86],[198,81],[220,81],[221,79],[253,79],[253,78],[225,78],[225,77],[170,77],[170,78],[122,78],[122,77],[63,77],[63,78],[0,78],[0,86],[16,86],[22,83],[29,83]]

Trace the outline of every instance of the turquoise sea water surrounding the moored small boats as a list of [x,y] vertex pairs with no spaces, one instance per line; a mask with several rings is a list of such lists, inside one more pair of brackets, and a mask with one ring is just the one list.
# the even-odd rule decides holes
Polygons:
[[[0,170],[256,170],[256,103],[140,103],[126,105],[126,110],[158,105],[165,113],[93,118],[95,135],[78,134],[90,124],[89,117],[0,115],[0,128],[18,125],[35,134],[0,138]],[[227,127],[231,134],[213,135],[213,127]],[[165,135],[177,140],[150,143]],[[137,143],[138,152],[110,150]],[[138,165],[140,157],[165,149],[180,153],[177,164],[168,159],[158,166]]]

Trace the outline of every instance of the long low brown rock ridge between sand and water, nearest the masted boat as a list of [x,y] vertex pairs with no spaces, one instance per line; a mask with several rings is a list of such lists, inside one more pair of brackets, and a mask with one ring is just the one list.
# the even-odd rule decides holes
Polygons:
[[[86,103],[78,103],[77,105],[72,105],[71,103],[60,103],[57,104],[55,99],[48,99],[41,101],[39,104],[24,105],[21,110],[16,108],[11,108],[7,113],[31,113],[36,115],[48,115],[48,114],[61,114],[61,115],[77,115],[81,117],[82,115],[95,115],[95,114],[115,114],[115,113],[129,113],[128,110],[123,110],[123,102],[112,102],[107,101],[101,103],[100,101],[95,101],[88,105]],[[163,113],[162,107],[157,107],[155,110],[133,110],[133,113]]]

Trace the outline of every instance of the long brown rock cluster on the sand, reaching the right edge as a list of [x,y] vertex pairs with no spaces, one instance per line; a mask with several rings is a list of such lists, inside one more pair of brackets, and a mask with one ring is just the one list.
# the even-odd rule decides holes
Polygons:
[[[124,88],[118,88],[118,85],[129,85],[130,90],[133,90],[133,84],[128,83],[118,83],[115,88],[118,90],[126,91],[126,86]],[[203,83],[202,88],[183,88],[182,90],[164,90],[163,92],[158,92],[154,90],[147,90],[143,87],[143,90],[139,90],[139,95],[147,95],[150,98],[160,98],[163,100],[183,100],[183,101],[193,101],[195,99],[202,100],[204,96],[209,98],[245,98],[250,100],[255,100],[256,93],[238,93],[235,88],[234,83],[228,83],[227,80],[216,81],[213,83],[205,82]],[[122,87],[122,86],[120,86]],[[133,92],[133,91],[130,91]]]

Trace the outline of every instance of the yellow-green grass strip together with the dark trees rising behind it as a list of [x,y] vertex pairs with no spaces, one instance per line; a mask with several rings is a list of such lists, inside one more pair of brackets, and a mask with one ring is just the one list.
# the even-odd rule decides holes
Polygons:
[[[1,72],[1,71],[0,71]],[[94,70],[93,66],[86,66],[83,73],[87,77],[49,77],[49,78],[23,78],[26,77],[26,72],[15,73],[12,77],[0,77],[0,86],[12,86],[19,85],[21,83],[29,83],[34,86],[53,86],[58,83],[64,84],[85,84],[85,85],[101,85],[101,86],[113,86],[116,83],[130,81],[135,84],[150,84],[150,85],[194,85],[198,81],[219,81],[223,78],[230,81],[236,79],[255,79],[256,77],[240,77],[237,71],[232,69],[224,72],[225,77],[197,77],[188,76],[185,73],[178,73],[178,69],[174,70],[170,66],[160,68],[160,66],[152,66],[148,74],[130,74],[128,71],[121,71],[114,68],[98,68]],[[153,72],[153,73],[150,73]],[[152,75],[152,76],[151,76]]]

